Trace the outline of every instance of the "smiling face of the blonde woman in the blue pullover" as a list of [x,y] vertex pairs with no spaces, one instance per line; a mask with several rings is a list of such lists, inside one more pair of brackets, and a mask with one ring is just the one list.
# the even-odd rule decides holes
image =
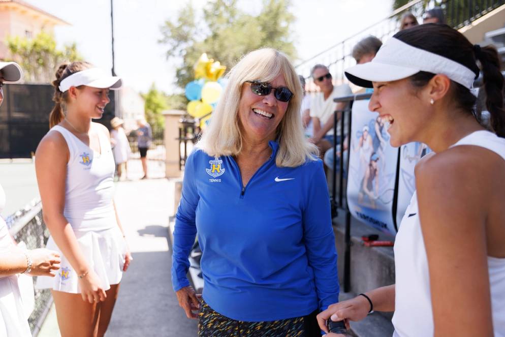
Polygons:
[[[255,80],[255,79],[251,79]],[[270,82],[272,87],[287,87],[282,74]],[[288,109],[289,102],[278,101],[272,89],[267,96],[258,96],[251,91],[249,83],[242,85],[238,119],[243,137],[250,141],[270,141]]]

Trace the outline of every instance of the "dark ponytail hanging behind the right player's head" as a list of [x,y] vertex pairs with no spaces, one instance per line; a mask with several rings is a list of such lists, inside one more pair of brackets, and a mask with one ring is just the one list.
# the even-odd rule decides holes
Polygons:
[[499,137],[505,137],[505,110],[503,109],[503,75],[496,48],[474,46],[476,58],[481,63],[486,91],[486,107],[491,114],[491,127]]

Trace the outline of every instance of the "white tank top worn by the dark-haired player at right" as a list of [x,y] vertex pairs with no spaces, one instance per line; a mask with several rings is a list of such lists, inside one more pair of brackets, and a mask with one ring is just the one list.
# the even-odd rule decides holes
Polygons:
[[[471,133],[452,146],[457,145],[485,147],[505,160],[505,139],[489,131]],[[505,207],[505,200],[503,202]],[[394,337],[433,336],[428,260],[418,213],[417,194],[414,193],[396,234],[394,246]],[[494,335],[505,337],[505,259],[488,256],[488,270]]]

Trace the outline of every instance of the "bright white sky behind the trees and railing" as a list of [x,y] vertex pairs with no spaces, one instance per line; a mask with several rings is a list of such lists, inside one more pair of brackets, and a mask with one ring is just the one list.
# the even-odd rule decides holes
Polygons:
[[[75,41],[84,59],[110,69],[110,0],[25,0],[71,24],[55,28],[58,44]],[[189,0],[113,0],[115,71],[127,85],[145,92],[175,89],[175,65],[165,58],[166,47],[157,43],[165,20],[177,16]],[[193,0],[197,8],[204,0]],[[239,0],[256,14],[258,0]],[[293,40],[300,59],[310,56],[381,20],[392,12],[391,0],[292,0]],[[295,61],[295,64],[297,62]]]

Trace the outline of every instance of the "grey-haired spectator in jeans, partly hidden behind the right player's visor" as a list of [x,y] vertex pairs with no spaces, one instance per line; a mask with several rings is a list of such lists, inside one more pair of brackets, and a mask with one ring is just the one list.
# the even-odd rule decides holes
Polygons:
[[[368,36],[364,39],[362,39],[360,42],[358,42],[354,48],[353,48],[353,58],[356,60],[356,64],[362,65],[367,62],[370,62],[374,57],[377,51],[381,48],[382,42],[381,40],[377,39],[374,36]],[[366,90],[365,90],[366,92]],[[347,130],[347,127],[346,127]],[[346,131],[344,130],[344,132]],[[344,137],[344,150],[346,150],[349,146],[349,137],[347,135]],[[338,167],[338,159],[340,158],[340,145],[339,142],[337,142],[337,163],[336,166]],[[328,166],[330,169],[333,170],[333,151],[335,151],[335,148],[332,147],[330,148],[326,154],[324,155],[324,162],[326,166]],[[347,157],[347,151],[344,152],[344,166],[347,163],[348,158]]]

